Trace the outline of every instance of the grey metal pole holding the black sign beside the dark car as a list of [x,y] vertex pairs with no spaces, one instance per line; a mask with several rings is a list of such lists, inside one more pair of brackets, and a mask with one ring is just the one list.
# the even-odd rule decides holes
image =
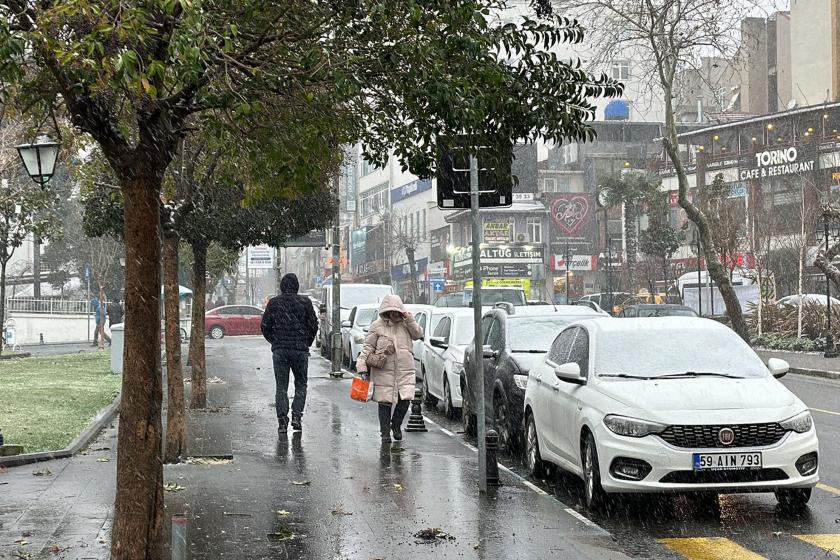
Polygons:
[[[487,492],[487,425],[484,407],[484,346],[481,341],[481,227],[478,196],[478,158],[470,155],[470,219],[472,220],[473,321],[475,344],[476,424],[478,424],[478,488]],[[425,383],[425,380],[424,380]]]

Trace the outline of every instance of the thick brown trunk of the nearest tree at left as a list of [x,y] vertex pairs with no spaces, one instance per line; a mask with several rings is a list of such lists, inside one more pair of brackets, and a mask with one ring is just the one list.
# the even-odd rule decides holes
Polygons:
[[125,350],[111,556],[163,557],[160,371],[160,181],[123,187]]

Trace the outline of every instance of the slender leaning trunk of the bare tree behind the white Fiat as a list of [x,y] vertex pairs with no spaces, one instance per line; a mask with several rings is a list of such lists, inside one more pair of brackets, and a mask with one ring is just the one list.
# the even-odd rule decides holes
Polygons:
[[738,301],[738,295],[732,287],[732,281],[726,274],[726,269],[720,263],[718,253],[714,248],[711,232],[709,230],[709,222],[705,214],[700,211],[693,203],[688,200],[688,179],[685,174],[685,168],[680,160],[679,150],[677,148],[677,129],[674,123],[674,114],[671,108],[670,88],[665,88],[665,127],[666,136],[662,143],[665,146],[665,151],[668,157],[674,164],[674,169],[677,172],[677,180],[679,181],[679,204],[685,210],[688,219],[694,222],[697,230],[700,232],[700,242],[703,244],[703,255],[706,257],[706,270],[712,280],[717,284],[720,290],[720,295],[723,298],[723,303],[726,305],[726,314],[732,323],[732,330],[738,333],[738,336],[749,342],[750,333],[747,328],[747,323],[744,321],[744,314],[741,311],[741,302]]

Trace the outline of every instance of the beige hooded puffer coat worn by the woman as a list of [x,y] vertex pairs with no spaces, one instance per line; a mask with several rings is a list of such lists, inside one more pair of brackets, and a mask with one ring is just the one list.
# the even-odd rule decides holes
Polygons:
[[[388,311],[397,311],[407,315],[405,319],[392,321],[382,316]],[[370,370],[370,381],[373,383],[373,400],[376,402],[396,402],[414,398],[414,355],[412,341],[423,336],[423,331],[414,321],[414,317],[407,313],[402,300],[396,295],[387,295],[379,306],[379,318],[370,325],[365,338],[365,345],[359,359],[356,360],[356,370],[366,372]],[[384,350],[393,341],[395,352],[388,356],[382,368],[369,368],[367,357],[377,349]]]

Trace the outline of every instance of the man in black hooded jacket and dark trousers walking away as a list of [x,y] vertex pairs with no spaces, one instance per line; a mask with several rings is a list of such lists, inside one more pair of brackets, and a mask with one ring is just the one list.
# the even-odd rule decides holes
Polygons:
[[271,299],[262,319],[262,333],[271,343],[274,355],[274,381],[277,385],[275,406],[277,432],[286,433],[289,422],[289,370],[295,376],[295,398],[292,401],[292,429],[301,431],[303,406],[306,404],[306,375],[309,347],[318,333],[318,319],[312,302],[298,295],[297,276],[286,274],[280,281],[280,295]]

